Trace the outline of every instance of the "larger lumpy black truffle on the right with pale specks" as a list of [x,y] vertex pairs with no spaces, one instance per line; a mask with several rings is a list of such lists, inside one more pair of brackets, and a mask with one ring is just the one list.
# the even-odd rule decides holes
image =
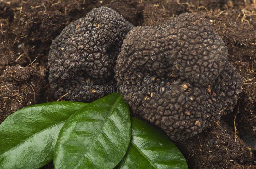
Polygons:
[[225,44],[198,14],[132,29],[115,73],[131,109],[173,140],[187,139],[218,121],[233,110],[242,92]]

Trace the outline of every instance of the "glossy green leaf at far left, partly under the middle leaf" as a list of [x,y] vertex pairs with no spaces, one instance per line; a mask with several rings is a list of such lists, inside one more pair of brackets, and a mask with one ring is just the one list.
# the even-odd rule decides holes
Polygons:
[[0,125],[0,168],[40,168],[49,163],[64,122],[85,105],[51,102],[11,114]]

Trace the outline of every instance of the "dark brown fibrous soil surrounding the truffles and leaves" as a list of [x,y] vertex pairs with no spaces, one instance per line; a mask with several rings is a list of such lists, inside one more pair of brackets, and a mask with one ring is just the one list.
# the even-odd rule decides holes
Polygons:
[[212,23],[243,77],[241,99],[218,123],[176,145],[189,168],[256,168],[255,0],[0,1],[0,123],[22,107],[58,99],[48,84],[51,42],[70,22],[102,5],[135,26],[159,25],[184,12]]

